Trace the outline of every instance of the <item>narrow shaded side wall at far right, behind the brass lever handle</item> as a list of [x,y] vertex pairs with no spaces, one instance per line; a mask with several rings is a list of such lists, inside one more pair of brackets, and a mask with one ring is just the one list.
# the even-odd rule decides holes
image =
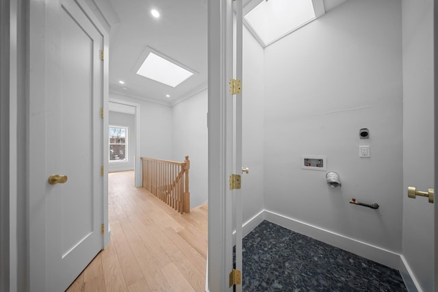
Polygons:
[[[420,291],[434,289],[435,202],[408,197],[408,187],[435,188],[433,1],[402,1],[403,20],[403,239],[402,260]],[[413,191],[413,189],[412,189]],[[410,269],[410,271],[408,270]],[[409,277],[407,277],[409,278]]]

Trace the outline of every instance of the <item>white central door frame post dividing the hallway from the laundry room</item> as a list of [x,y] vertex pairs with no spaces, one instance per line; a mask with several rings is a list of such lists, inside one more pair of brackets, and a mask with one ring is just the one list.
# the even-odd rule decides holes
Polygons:
[[[208,1],[208,260],[207,291],[232,291],[233,98],[227,90],[233,73],[232,0]],[[216,232],[213,232],[216,230]]]

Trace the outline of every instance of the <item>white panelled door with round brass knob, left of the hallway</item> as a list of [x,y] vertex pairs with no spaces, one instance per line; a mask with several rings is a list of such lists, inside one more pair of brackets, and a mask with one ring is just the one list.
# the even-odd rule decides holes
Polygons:
[[103,36],[73,0],[32,16],[29,288],[64,291],[103,248]]

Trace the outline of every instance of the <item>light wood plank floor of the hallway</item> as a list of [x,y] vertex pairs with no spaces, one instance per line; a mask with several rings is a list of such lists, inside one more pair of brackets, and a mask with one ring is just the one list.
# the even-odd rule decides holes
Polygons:
[[207,204],[179,214],[133,172],[108,177],[111,243],[67,291],[205,291]]

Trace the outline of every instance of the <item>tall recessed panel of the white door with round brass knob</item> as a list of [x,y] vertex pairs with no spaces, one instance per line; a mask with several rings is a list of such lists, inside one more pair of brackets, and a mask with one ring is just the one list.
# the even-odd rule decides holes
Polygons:
[[[92,51],[93,41],[62,10],[62,230],[65,254],[93,231]],[[99,51],[99,50],[98,50]],[[79,86],[78,86],[79,85]],[[77,119],[78,113],[81,118]],[[80,161],[80,162],[79,162]],[[78,163],[79,162],[79,163]],[[79,183],[80,182],[80,183]]]

